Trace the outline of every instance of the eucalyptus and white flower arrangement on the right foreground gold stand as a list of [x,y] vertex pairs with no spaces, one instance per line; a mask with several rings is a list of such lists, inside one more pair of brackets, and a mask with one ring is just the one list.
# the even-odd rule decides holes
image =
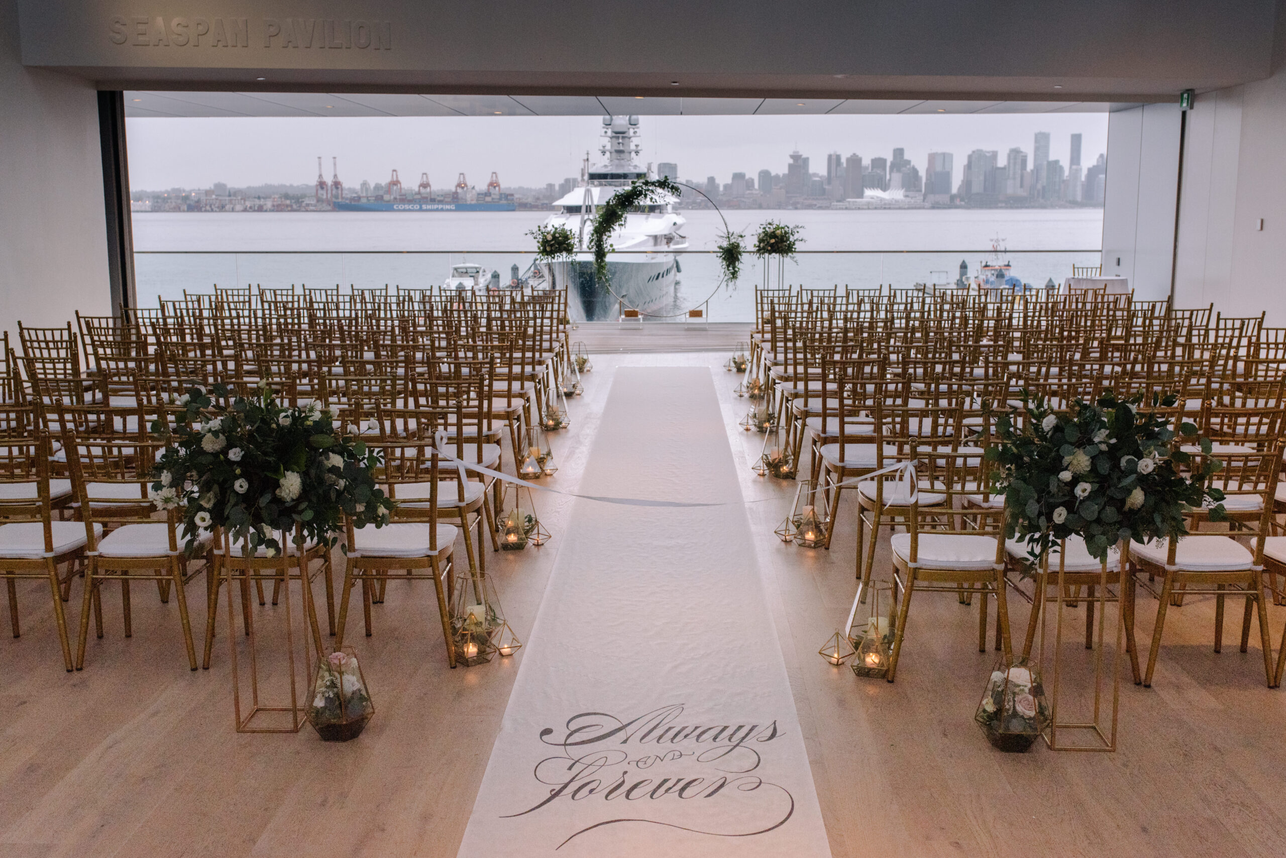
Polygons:
[[[1154,394],[1151,407],[1172,408],[1175,394]],[[1184,514],[1208,501],[1211,520],[1224,518],[1223,492],[1211,486],[1222,462],[1208,438],[1183,423],[1179,433],[1201,456],[1181,450],[1164,414],[1145,410],[1143,394],[1070,411],[1049,408],[1042,397],[997,421],[998,443],[986,451],[999,465],[992,474],[1004,493],[1006,537],[1026,542],[1033,560],[1060,539],[1079,534],[1097,560],[1121,539],[1148,542],[1187,534]]]

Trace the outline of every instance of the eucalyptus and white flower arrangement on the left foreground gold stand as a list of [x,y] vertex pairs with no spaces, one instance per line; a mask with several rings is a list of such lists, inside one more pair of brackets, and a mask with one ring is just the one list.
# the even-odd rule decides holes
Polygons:
[[175,426],[152,424],[171,443],[153,469],[150,498],[181,510],[189,550],[220,528],[248,542],[249,554],[262,547],[275,556],[278,532],[333,546],[345,515],[359,528],[388,521],[394,501],[374,478],[379,455],[342,435],[336,412],[320,403],[282,406],[264,384],[248,398],[193,387],[177,405]]

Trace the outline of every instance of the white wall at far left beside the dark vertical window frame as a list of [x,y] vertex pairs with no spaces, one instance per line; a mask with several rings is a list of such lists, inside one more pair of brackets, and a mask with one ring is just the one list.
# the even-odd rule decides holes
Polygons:
[[[19,62],[18,4],[0,0],[0,329],[109,312],[98,98]],[[21,353],[21,351],[19,351]]]

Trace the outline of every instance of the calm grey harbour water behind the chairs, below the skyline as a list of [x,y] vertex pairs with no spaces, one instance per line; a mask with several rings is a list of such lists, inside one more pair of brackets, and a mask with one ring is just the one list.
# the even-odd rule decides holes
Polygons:
[[[712,250],[723,222],[718,212],[684,212],[692,250],[682,257],[675,311],[709,301],[712,321],[754,319],[754,286],[763,281],[760,262],[745,261],[738,284],[719,283]],[[526,271],[532,241],[526,232],[548,212],[280,212],[134,214],[139,302],[156,297],[208,292],[212,284],[293,284],[358,286],[430,286],[466,258]],[[1013,250],[1013,274],[1028,283],[1062,280],[1073,263],[1098,265],[1098,253],[1022,253],[1087,250],[1102,239],[1102,209],[886,209],[886,211],[730,211],[728,225],[754,236],[766,220],[799,223],[804,244],[786,263],[786,281],[808,286],[954,280],[963,259],[976,272],[992,239]],[[148,250],[198,253],[150,254]],[[211,253],[211,252],[237,253]],[[346,253],[318,253],[345,250]],[[391,250],[364,254],[359,252]],[[421,250],[431,253],[401,253]],[[526,250],[526,253],[523,253]],[[883,253],[844,253],[883,250]],[[948,253],[932,253],[946,250]],[[203,252],[203,253],[202,253]],[[824,253],[817,253],[824,252]]]

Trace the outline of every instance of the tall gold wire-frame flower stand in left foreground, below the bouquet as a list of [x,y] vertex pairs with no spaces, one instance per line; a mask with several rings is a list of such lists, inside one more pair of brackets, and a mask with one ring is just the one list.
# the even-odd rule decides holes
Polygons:
[[[244,545],[242,555],[231,552],[231,542],[222,534],[222,555],[217,557],[221,583],[228,591],[228,649],[233,669],[233,712],[239,733],[294,733],[306,722],[311,700],[309,683],[312,679],[312,655],[323,658],[322,633],[318,628],[312,587],[309,583],[309,563],[322,559],[324,546],[310,550],[289,550],[284,542],[283,554],[276,557],[256,555]],[[262,586],[273,582],[280,587],[279,601],[284,610],[280,628],[271,629],[261,641],[251,608],[251,583]],[[292,596],[292,584],[298,583],[298,610]],[[238,600],[240,604],[238,605]],[[211,620],[213,619],[211,606]],[[244,635],[238,644],[237,614],[242,614]],[[262,629],[266,631],[266,629]],[[311,631],[311,641],[310,638]],[[284,637],[284,640],[282,640]],[[261,651],[262,644],[262,651]],[[238,652],[244,647],[246,660]],[[302,667],[302,670],[300,670]],[[271,686],[271,691],[261,687]]]

